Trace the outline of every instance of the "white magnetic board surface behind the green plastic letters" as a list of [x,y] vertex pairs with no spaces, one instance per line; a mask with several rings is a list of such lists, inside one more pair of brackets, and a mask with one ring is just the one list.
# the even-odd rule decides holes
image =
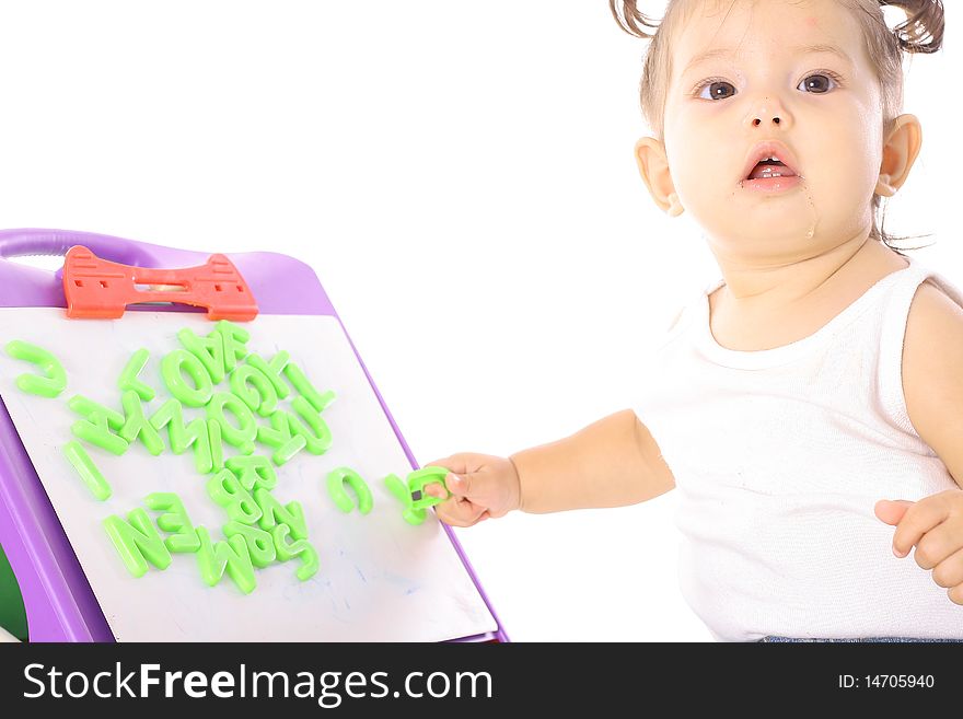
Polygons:
[[[150,359],[139,379],[156,393],[144,403],[149,417],[171,395],[160,374],[161,359],[182,349],[176,334],[184,327],[204,336],[213,323],[200,313],[127,312],[120,320],[68,320],[62,309],[0,309],[0,348],[20,339],[53,352],[67,372],[67,389],[47,398],[21,392],[15,378],[36,373],[35,366],[0,351],[0,396],[44,484],[63,530],[115,637],[120,641],[436,641],[494,631],[496,622],[433,512],[420,525],[402,517],[399,502],[383,478],[402,479],[410,463],[368,382],[338,321],[324,315],[260,315],[239,323],[251,334],[247,349],[270,360],[290,353],[318,392],[332,390],[335,402],[322,416],[333,441],[327,452],[306,450],[276,466],[272,494],[282,502],[298,500],[304,509],[309,541],[318,553],[320,569],[300,581],[298,559],[255,569],[257,588],[242,593],[225,575],[208,587],[194,554],[174,554],[165,570],[150,567],[140,578],[124,566],[102,526],[104,518],[143,508],[155,491],[176,492],[195,525],[223,540],[224,510],[207,495],[212,475],[198,474],[194,454],[176,455],[166,430],[164,452],[151,455],[135,441],[116,456],[84,444],[111,484],[113,495],[96,500],[66,459],[71,425],[81,419],[68,399],[83,395],[123,411],[118,378],[140,348]],[[417,351],[416,347],[398,351]],[[228,380],[214,385],[230,392]],[[293,391],[279,401],[291,410]],[[184,407],[185,422],[204,408]],[[268,419],[255,415],[259,424]],[[229,420],[232,420],[230,413]],[[256,444],[255,453],[271,449]],[[224,443],[224,455],[237,450]],[[327,496],[325,477],[348,466],[374,496],[371,513],[340,512]]]

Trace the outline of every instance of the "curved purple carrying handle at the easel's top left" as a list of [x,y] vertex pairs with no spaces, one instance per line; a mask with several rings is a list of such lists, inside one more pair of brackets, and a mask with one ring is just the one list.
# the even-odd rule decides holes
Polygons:
[[124,265],[149,267],[156,257],[140,243],[92,232],[59,230],[0,230],[0,259],[21,255],[63,256],[73,245],[84,245],[97,257]]

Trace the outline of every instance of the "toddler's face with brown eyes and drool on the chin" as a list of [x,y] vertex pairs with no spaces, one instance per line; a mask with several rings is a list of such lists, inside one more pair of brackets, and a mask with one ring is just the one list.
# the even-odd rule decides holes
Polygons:
[[[713,251],[790,259],[868,233],[882,111],[850,11],[837,0],[697,4],[672,38],[664,142],[675,193]],[[811,45],[846,57],[799,49]],[[697,60],[719,48],[736,55]],[[768,140],[788,147],[799,175],[771,193],[745,182]]]

